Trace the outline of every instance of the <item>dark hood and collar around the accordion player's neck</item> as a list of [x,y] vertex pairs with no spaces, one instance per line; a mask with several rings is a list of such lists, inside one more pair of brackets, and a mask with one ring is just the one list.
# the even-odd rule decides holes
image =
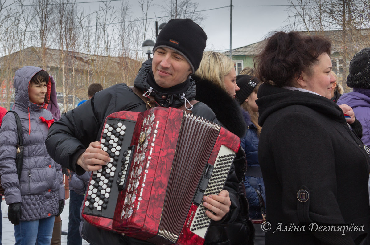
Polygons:
[[[151,86],[148,84],[147,76],[149,74],[149,71],[152,68],[152,58],[145,61],[140,70],[137,74],[134,86],[141,89],[144,92],[149,93],[149,89]],[[147,93],[147,94],[148,94]],[[186,98],[188,101],[191,101],[195,97],[195,82],[194,80],[190,79],[190,87],[186,89],[186,91],[182,92],[184,95],[184,98]],[[181,105],[185,104],[185,99],[182,98],[182,93],[179,94],[169,94],[169,93],[161,93],[160,91],[155,91],[154,89],[150,90],[150,95],[152,95],[155,98],[155,101],[159,103],[160,106],[164,107],[175,107],[178,108]]]

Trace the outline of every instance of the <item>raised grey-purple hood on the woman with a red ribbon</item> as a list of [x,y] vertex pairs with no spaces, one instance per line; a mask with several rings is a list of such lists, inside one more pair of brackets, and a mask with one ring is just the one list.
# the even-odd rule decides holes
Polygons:
[[[30,102],[30,97],[28,95],[28,85],[30,84],[31,78],[42,71],[40,67],[34,66],[24,66],[16,71],[13,79],[13,86],[15,89],[15,96],[14,96],[14,107],[18,106],[21,108],[28,107],[32,110],[41,110],[42,108],[47,108],[48,104],[37,105]],[[50,78],[49,78],[50,82]],[[55,82],[54,82],[55,85]],[[55,86],[54,86],[55,87]],[[51,82],[48,83],[46,96],[50,98],[50,90],[51,90]],[[56,93],[56,92],[55,92]]]

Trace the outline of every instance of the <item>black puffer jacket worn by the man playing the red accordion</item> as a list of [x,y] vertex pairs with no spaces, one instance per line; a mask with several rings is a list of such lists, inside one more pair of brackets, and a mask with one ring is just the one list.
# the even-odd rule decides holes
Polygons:
[[[152,84],[149,85],[152,60],[147,60],[142,64],[137,77],[135,78],[135,87],[142,91],[148,91]],[[151,95],[155,101],[165,107],[180,107],[185,103],[181,98],[185,94],[185,98],[191,101],[195,97],[195,82],[192,79],[185,81],[188,83],[183,91],[176,94],[166,94],[160,91],[152,90]],[[158,85],[157,85],[158,86]],[[171,88],[168,88],[171,91]],[[106,88],[94,95],[90,100],[76,107],[74,110],[68,111],[63,117],[55,122],[47,138],[47,150],[55,161],[60,162],[70,170],[81,175],[85,171],[79,165],[76,165],[77,158],[88,147],[90,142],[100,139],[100,132],[103,127],[105,118],[117,111],[136,111],[142,112],[147,110],[144,101],[139,98],[132,90],[124,83]],[[206,118],[210,121],[217,122],[213,111],[204,103],[194,105],[192,112],[198,116]],[[225,189],[229,191],[231,199],[231,207],[228,214],[217,224],[231,224],[237,218],[239,212],[238,203],[239,195],[237,194],[238,179],[235,175],[235,170],[231,170],[232,174],[226,181]],[[145,241],[122,236],[115,232],[104,231],[95,226],[84,222],[82,226],[82,236],[90,244],[149,244]],[[216,236],[216,234],[213,234]]]

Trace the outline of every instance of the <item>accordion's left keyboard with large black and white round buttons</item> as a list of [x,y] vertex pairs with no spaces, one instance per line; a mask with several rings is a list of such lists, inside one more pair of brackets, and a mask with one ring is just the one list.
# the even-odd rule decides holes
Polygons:
[[110,162],[98,171],[93,171],[87,189],[84,214],[113,219],[118,191],[125,187],[129,158],[129,147],[135,121],[107,118],[100,144],[110,156]]

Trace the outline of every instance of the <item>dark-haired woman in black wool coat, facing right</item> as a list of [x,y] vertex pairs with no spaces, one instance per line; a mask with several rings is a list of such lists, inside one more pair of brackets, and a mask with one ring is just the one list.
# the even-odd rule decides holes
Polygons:
[[255,60],[266,244],[369,244],[369,154],[353,110],[330,100],[330,48],[277,32]]

